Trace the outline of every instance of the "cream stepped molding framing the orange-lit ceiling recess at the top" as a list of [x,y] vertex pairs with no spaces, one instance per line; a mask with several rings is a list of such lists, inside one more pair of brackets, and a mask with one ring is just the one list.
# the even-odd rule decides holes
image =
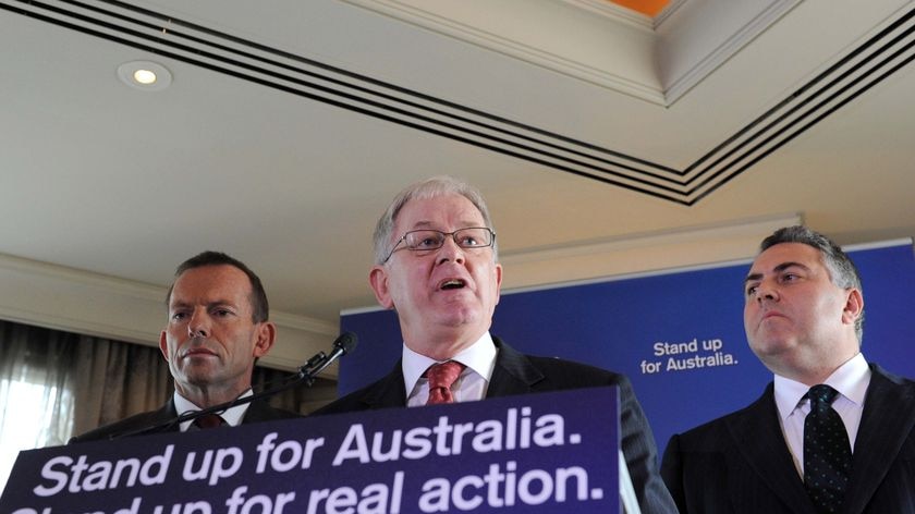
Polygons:
[[[554,2],[532,0],[471,3],[471,8],[467,2],[343,1],[663,107],[672,106],[801,2],[679,0],[652,20],[605,0],[562,0],[571,11],[589,15],[570,12],[561,17]],[[728,11],[723,19],[722,7]],[[479,12],[489,15],[481,17]],[[545,26],[550,30],[538,29]],[[565,45],[549,37],[556,32],[564,34]]]

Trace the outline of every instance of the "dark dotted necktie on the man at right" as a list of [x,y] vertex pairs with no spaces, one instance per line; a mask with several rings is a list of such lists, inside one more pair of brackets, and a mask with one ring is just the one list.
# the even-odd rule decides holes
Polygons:
[[820,513],[839,510],[852,468],[849,435],[831,405],[837,394],[826,384],[807,392],[810,414],[804,419],[804,487]]

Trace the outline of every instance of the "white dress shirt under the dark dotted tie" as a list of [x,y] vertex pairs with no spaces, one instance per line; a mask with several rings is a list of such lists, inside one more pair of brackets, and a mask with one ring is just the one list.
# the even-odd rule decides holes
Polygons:
[[[839,413],[852,452],[855,449],[855,438],[864,412],[864,396],[870,384],[870,368],[864,355],[858,353],[839,367],[823,382],[839,391],[832,402],[832,408]],[[794,466],[801,477],[804,477],[804,418],[810,412],[810,401],[804,395],[810,390],[809,386],[776,375],[776,405],[779,409],[784,440],[794,457]]]

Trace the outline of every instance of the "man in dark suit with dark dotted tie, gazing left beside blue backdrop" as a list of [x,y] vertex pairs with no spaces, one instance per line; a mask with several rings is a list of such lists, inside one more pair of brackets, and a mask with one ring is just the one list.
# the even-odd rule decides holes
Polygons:
[[[849,257],[807,228],[781,229],[762,242],[745,296],[749,346],[774,381],[746,408],[671,438],[661,474],[680,512],[915,514],[915,382],[861,354],[864,298]],[[831,405],[813,408],[817,391]],[[823,453],[825,417],[834,429]]]

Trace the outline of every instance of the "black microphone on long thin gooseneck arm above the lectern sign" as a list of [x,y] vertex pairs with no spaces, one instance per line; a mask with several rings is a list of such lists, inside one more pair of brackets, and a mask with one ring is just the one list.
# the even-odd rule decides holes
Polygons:
[[150,433],[150,432],[158,432],[168,430],[175,425],[181,425],[184,421],[193,421],[198,417],[206,416],[207,414],[217,414],[225,412],[232,407],[237,405],[244,405],[246,403],[254,402],[255,400],[260,400],[263,397],[272,396],[279,392],[285,391],[286,389],[292,388],[301,382],[305,382],[306,386],[309,388],[315,383],[315,378],[318,374],[324,371],[328,366],[330,366],[334,360],[346,355],[347,353],[352,352],[353,348],[356,347],[356,343],[358,342],[358,338],[353,332],[343,332],[333,341],[333,348],[330,351],[330,354],[325,354],[324,352],[318,352],[312,358],[305,363],[304,366],[298,368],[298,371],[293,377],[292,380],[282,383],[276,388],[267,389],[260,391],[256,394],[251,394],[248,396],[236,397],[235,400],[220,403],[218,405],[213,405],[211,407],[202,408],[199,411],[188,411],[184,414],[179,415],[178,417],[169,420],[168,423],[154,425],[151,427],[146,427],[141,430],[133,430],[130,432],[112,435],[109,439],[120,439],[126,438],[132,436],[141,436],[143,433]]

